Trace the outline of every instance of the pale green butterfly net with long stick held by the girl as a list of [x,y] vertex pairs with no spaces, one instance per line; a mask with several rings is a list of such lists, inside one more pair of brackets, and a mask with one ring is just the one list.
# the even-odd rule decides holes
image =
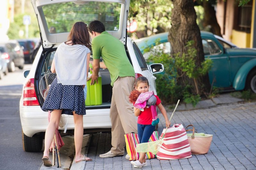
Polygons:
[[[175,112],[178,104],[179,104],[180,100],[178,100],[178,103],[175,106],[174,111],[172,112],[171,118],[169,121],[171,121],[173,113]],[[167,127],[164,131],[164,135],[166,133]],[[146,143],[139,143],[136,145],[136,151],[137,152],[152,152],[153,154],[156,154],[158,152],[158,149],[161,147],[161,145],[164,142],[164,135],[162,137],[162,139],[157,140],[157,141],[153,141],[153,142],[146,142]]]

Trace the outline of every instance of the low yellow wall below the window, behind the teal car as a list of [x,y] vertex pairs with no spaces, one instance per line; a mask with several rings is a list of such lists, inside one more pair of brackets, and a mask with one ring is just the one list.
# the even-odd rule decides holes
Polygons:
[[250,48],[251,34],[232,30],[231,42],[240,48]]

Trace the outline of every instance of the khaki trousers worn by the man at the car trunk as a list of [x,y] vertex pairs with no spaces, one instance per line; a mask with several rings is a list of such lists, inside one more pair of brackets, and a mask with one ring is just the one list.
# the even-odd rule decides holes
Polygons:
[[135,78],[118,77],[114,82],[110,106],[111,152],[124,153],[126,133],[138,133],[137,119],[133,112],[133,105],[129,102],[129,95],[133,89]]

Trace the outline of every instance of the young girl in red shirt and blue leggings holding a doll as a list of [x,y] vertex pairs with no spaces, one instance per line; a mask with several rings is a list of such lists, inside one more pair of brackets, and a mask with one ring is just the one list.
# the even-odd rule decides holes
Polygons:
[[[139,93],[145,93],[148,92],[149,89],[149,83],[148,79],[146,77],[138,77],[135,79],[134,83],[134,89],[136,89]],[[170,121],[168,120],[167,113],[164,109],[164,106],[161,104],[161,100],[158,96],[156,96],[156,106],[159,108],[161,113],[164,116],[165,119],[165,125],[166,127],[170,127]],[[134,103],[133,103],[134,104]],[[150,136],[155,130],[155,126],[152,126],[152,113],[151,109],[145,109],[144,111],[141,111],[140,109],[134,107],[134,114],[135,116],[138,116],[138,137],[140,143],[146,143],[148,142]],[[131,164],[134,165],[134,167],[141,168],[142,166],[147,166],[146,163],[146,153],[140,153],[139,160],[131,161]]]

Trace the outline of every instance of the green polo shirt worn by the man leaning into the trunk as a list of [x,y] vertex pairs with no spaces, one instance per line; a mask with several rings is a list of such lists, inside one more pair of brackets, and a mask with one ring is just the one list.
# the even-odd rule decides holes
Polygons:
[[107,31],[92,39],[92,57],[93,59],[100,59],[100,56],[110,73],[111,86],[113,86],[118,76],[135,77],[135,72],[126,55],[124,44],[116,37],[108,34]]

